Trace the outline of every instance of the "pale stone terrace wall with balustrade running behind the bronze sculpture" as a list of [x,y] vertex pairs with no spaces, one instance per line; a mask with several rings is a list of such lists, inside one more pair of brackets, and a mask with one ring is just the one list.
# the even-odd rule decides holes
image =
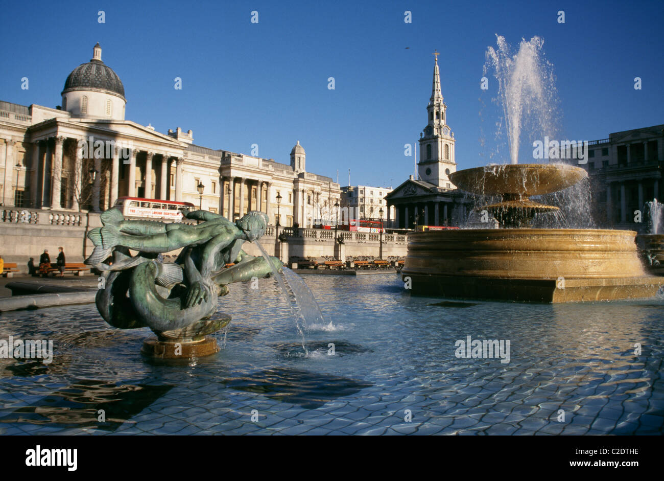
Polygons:
[[[86,238],[90,229],[100,227],[99,214],[48,209],[0,208],[0,255],[5,262],[16,262],[21,272],[28,272],[29,258],[35,258],[48,249],[52,262],[58,255],[58,246],[64,247],[68,262],[83,262],[92,252],[92,242]],[[284,234],[286,242],[278,240]],[[346,260],[348,256],[380,256],[380,234],[338,231],[343,244],[335,244],[335,231],[325,229],[293,229],[292,227],[268,227],[260,240],[268,254],[284,261],[290,257],[335,256]],[[258,256],[255,244],[245,242],[244,250]],[[383,234],[382,257],[405,257],[406,236]]]

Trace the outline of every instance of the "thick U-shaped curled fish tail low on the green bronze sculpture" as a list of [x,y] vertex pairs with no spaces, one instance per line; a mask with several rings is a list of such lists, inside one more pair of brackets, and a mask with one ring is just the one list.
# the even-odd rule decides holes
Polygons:
[[211,292],[200,304],[185,308],[180,298],[166,299],[159,295],[155,287],[159,276],[157,262],[143,262],[133,270],[129,287],[131,304],[153,331],[184,328],[214,313],[218,299],[216,292]]

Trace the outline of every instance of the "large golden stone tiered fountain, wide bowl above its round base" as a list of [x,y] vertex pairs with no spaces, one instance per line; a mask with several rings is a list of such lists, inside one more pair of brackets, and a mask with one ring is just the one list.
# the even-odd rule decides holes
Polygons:
[[664,285],[663,278],[646,274],[634,231],[513,227],[529,225],[544,207],[557,209],[533,208],[540,204],[529,195],[569,187],[586,175],[583,169],[525,164],[468,170],[450,178],[471,192],[503,192],[491,213],[511,225],[409,235],[402,277],[410,278],[415,294],[570,302],[646,298]]

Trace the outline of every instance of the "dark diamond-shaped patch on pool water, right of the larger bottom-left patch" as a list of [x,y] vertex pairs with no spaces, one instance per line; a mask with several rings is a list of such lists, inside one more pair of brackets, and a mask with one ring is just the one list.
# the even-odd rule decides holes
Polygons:
[[276,367],[222,381],[227,388],[258,393],[276,401],[317,409],[339,397],[351,396],[371,384],[345,377]]

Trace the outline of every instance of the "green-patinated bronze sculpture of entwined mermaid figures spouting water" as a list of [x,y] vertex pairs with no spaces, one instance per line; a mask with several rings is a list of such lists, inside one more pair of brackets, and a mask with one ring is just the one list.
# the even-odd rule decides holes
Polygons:
[[[108,324],[147,326],[159,339],[199,339],[230,322],[230,316],[208,320],[218,298],[228,294],[228,284],[272,274],[263,257],[242,250],[244,242],[264,235],[264,213],[250,212],[237,223],[209,211],[183,215],[202,222],[127,221],[118,209],[110,209],[101,216],[103,227],[88,233],[95,248],[85,262],[103,272],[106,283],[96,305]],[[162,253],[179,248],[175,262],[161,260]],[[129,249],[138,253],[132,256]],[[282,268],[278,258],[270,260]]]

